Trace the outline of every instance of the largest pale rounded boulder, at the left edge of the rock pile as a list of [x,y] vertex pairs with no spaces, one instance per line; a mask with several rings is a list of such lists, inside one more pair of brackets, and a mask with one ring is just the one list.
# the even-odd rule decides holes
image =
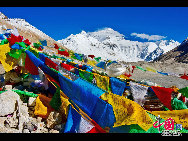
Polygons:
[[17,108],[17,100],[20,100],[19,95],[11,90],[0,94],[0,116],[12,114]]

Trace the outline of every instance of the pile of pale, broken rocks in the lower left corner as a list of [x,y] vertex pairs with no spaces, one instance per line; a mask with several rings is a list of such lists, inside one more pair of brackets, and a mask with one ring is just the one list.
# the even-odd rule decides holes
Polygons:
[[8,90],[0,94],[0,133],[59,133],[62,116],[52,111],[47,119],[34,115],[36,98],[24,103],[20,96]]

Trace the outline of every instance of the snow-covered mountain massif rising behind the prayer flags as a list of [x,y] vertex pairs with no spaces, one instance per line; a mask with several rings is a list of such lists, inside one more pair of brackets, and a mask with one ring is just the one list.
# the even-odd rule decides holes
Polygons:
[[58,42],[77,53],[126,62],[152,61],[180,44],[174,40],[131,41],[111,28],[87,33],[82,31]]

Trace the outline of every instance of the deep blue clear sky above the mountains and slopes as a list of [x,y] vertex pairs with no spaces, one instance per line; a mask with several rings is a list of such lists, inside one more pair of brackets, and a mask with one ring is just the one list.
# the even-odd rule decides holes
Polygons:
[[[165,36],[182,42],[188,37],[188,7],[0,7],[9,18],[23,18],[55,40],[110,27],[131,33]],[[136,38],[138,39],[138,38]]]

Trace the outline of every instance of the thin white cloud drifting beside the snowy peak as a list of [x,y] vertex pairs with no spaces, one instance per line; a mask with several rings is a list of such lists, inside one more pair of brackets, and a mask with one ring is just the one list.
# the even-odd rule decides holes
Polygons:
[[160,35],[148,35],[148,34],[138,34],[138,33],[131,33],[131,36],[136,36],[142,39],[147,39],[148,41],[157,41],[166,38],[165,36],[160,36]]

